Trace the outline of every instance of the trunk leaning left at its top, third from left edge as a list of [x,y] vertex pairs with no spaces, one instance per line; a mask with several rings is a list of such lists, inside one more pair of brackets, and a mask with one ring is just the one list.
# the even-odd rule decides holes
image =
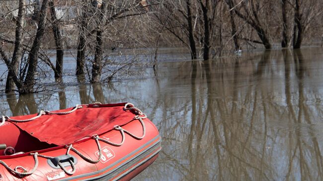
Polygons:
[[61,27],[56,17],[55,4],[53,0],[49,1],[52,29],[56,45],[56,71],[55,78],[62,78],[63,74],[63,62],[64,62],[64,43]]

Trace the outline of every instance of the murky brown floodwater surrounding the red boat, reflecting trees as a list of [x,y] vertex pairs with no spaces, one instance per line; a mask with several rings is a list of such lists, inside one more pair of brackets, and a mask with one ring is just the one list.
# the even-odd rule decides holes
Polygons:
[[157,125],[135,181],[323,180],[323,49],[160,63],[144,79],[0,96],[2,115],[131,102]]

